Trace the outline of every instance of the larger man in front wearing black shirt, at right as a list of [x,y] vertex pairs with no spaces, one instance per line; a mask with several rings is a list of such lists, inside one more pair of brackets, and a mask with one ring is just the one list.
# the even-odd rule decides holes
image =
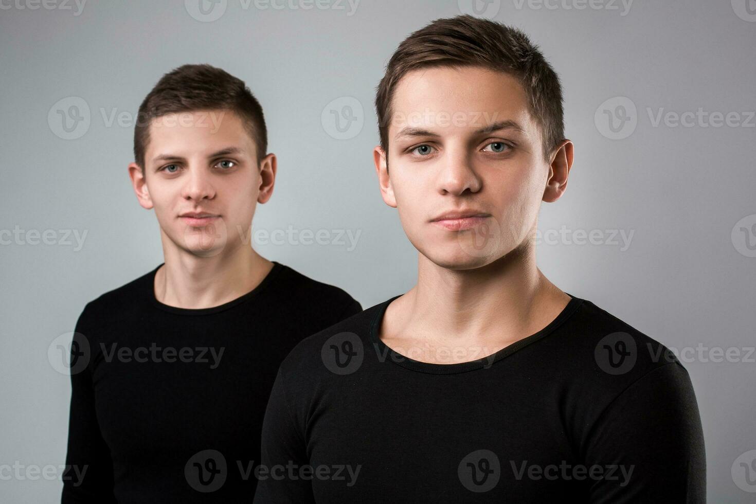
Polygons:
[[541,52],[437,20],[401,43],[376,109],[417,285],[283,361],[255,502],[704,502],[686,370],[536,266],[538,209],[573,159]]

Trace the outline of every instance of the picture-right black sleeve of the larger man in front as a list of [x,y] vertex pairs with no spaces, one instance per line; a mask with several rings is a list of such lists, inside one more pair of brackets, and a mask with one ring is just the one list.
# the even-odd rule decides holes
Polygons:
[[598,466],[594,504],[706,502],[703,432],[686,369],[665,364],[615,397],[584,453],[589,475]]

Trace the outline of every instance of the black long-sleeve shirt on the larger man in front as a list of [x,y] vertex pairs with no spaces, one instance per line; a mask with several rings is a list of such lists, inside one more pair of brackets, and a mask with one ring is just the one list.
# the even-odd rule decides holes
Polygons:
[[255,502],[705,502],[686,369],[571,297],[465,363],[387,347],[395,298],[305,339],[271,392]]

